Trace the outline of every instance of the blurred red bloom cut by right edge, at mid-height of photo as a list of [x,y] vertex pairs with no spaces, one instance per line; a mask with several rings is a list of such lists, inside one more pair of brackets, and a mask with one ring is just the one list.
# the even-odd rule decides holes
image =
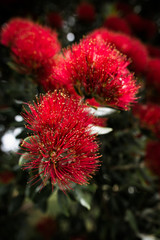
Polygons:
[[136,104],[133,114],[139,118],[144,128],[150,129],[158,138],[160,137],[160,106],[148,104]]

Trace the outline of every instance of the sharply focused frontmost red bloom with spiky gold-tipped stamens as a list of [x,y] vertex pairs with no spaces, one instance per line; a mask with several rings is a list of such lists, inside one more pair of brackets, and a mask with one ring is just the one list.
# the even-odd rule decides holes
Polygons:
[[54,91],[28,107],[23,116],[33,136],[22,147],[28,152],[24,168],[38,171],[32,181],[41,176],[44,184],[50,180],[62,190],[88,183],[99,166],[99,147],[91,133],[95,120],[86,105]]

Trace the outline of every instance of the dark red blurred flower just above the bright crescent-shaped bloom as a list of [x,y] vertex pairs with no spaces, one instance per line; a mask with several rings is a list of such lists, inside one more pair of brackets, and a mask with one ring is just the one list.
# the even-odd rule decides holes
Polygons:
[[130,26],[124,18],[118,16],[109,16],[103,23],[104,27],[117,32],[123,32],[127,35],[131,34]]

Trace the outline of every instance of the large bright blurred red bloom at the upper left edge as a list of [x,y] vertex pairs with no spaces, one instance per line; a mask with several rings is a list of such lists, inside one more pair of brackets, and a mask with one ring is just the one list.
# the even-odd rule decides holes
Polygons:
[[52,64],[61,47],[55,31],[21,18],[12,19],[2,28],[1,43],[10,47],[18,70],[27,73]]

